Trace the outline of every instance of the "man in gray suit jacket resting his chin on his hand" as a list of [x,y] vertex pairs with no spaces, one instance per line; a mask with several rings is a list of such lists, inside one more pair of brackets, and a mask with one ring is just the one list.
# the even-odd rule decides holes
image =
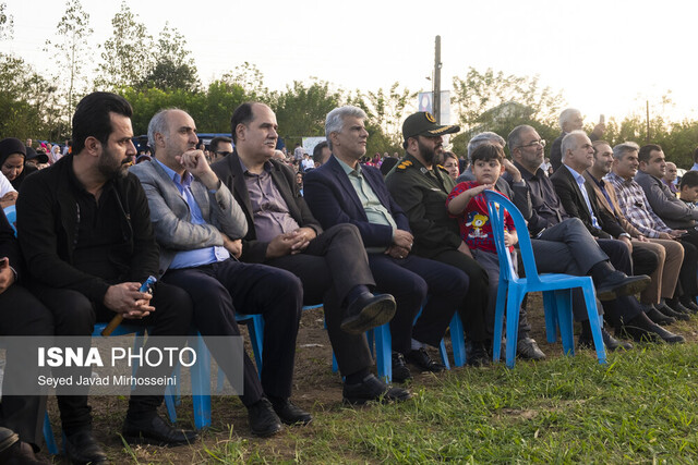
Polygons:
[[[306,424],[310,414],[293,405],[291,380],[302,289],[293,274],[263,265],[241,264],[240,237],[248,224],[230,191],[196,150],[196,127],[181,110],[163,110],[148,124],[153,161],[132,167],[148,198],[160,245],[163,281],[185,290],[194,302],[194,325],[203,335],[239,335],[234,313],[262,314],[262,380],[244,354],[243,393],[252,432],[272,436],[281,423]],[[236,370],[234,351],[212,347],[226,376]]]

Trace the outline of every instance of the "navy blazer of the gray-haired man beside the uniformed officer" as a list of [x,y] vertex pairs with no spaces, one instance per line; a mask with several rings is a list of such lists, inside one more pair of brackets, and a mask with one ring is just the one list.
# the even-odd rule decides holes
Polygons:
[[[397,228],[410,231],[407,215],[393,200],[381,171],[362,164],[361,172],[381,204],[393,216]],[[303,191],[305,201],[323,228],[350,223],[359,229],[366,247],[388,247],[393,244],[393,228],[369,222],[349,176],[334,155],[327,163],[305,173]]]

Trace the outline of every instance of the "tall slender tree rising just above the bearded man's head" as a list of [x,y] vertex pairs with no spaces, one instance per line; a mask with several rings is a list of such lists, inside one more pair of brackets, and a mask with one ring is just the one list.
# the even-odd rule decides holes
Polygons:
[[83,69],[85,68],[88,45],[87,37],[92,35],[89,27],[89,14],[83,10],[80,0],[68,0],[65,2],[65,13],[58,22],[56,32],[59,40],[46,40],[45,51],[52,51],[52,57],[58,63],[59,75],[57,79],[65,76],[65,100],[67,106],[64,117],[70,120],[73,114],[73,107],[77,102],[76,95],[84,94],[85,85]]

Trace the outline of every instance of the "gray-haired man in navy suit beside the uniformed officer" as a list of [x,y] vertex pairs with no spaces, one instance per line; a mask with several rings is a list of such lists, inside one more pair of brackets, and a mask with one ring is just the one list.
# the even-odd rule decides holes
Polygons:
[[[333,156],[306,174],[305,198],[323,227],[349,223],[359,229],[377,287],[398,303],[390,323],[393,375],[407,379],[405,358],[421,370],[444,369],[423,345],[438,345],[469,280],[457,268],[410,255],[413,237],[407,216],[390,197],[381,172],[359,163],[369,136],[365,119],[363,110],[350,106],[327,114],[325,134]],[[429,301],[412,329],[426,292]]]

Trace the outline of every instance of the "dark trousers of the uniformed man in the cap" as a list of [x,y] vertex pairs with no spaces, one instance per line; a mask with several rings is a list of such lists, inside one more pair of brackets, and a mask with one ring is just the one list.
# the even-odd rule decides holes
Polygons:
[[472,342],[488,340],[486,313],[490,292],[488,272],[476,260],[457,249],[445,250],[432,257],[433,260],[450,265],[468,274],[470,284],[458,311],[462,319],[466,338]]

